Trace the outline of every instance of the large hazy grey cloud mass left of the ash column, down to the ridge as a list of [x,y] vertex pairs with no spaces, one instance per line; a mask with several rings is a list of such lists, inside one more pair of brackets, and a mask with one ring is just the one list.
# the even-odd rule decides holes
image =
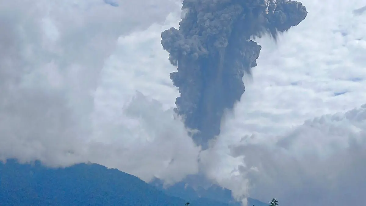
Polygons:
[[136,94],[131,80],[113,96],[108,86],[123,79],[105,77],[113,66],[105,62],[123,38],[179,16],[180,5],[110,4],[0,1],[0,158],[91,161],[145,181],[179,181],[197,172],[199,148],[171,107]]

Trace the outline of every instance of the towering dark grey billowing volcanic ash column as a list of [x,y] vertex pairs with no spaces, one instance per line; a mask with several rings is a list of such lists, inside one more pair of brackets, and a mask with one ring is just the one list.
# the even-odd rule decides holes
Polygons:
[[161,33],[161,44],[178,71],[170,78],[179,88],[176,112],[188,128],[198,129],[195,143],[208,147],[219,135],[225,109],[244,93],[242,78],[257,66],[261,46],[250,40],[298,25],[305,6],[289,0],[183,0],[179,30]]

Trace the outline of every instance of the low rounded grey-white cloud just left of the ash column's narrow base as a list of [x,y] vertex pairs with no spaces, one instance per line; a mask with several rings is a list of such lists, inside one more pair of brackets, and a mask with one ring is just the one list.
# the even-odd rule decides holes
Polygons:
[[[105,105],[104,108],[107,108]],[[91,144],[90,161],[132,173],[145,181],[154,176],[167,184],[198,172],[196,147],[173,111],[138,93],[127,105],[100,111],[94,128],[99,139]],[[100,120],[100,121],[99,121]]]

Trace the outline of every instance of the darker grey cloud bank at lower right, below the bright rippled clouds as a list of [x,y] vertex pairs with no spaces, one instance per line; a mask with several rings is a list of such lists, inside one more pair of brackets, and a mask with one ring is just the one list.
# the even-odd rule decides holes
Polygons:
[[208,175],[238,199],[250,195],[276,197],[284,206],[341,206],[359,204],[366,192],[361,181],[366,172],[366,105],[308,120],[272,141],[270,136],[245,136],[226,148],[223,141],[201,156],[225,157],[206,165]]

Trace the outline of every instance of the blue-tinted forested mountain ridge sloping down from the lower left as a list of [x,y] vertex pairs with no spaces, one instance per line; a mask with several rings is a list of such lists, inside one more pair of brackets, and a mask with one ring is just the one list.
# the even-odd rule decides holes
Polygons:
[[183,206],[187,201],[192,206],[236,206],[182,196],[169,195],[136,176],[95,163],[47,168],[39,161],[0,162],[1,206]]

